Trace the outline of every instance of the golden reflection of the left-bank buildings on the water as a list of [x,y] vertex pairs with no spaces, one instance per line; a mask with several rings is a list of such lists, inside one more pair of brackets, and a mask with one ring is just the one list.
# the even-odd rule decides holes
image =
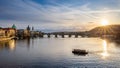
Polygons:
[[16,46],[15,40],[8,40],[8,41],[1,41],[0,42],[0,50],[2,50],[2,49],[14,50],[15,46]]

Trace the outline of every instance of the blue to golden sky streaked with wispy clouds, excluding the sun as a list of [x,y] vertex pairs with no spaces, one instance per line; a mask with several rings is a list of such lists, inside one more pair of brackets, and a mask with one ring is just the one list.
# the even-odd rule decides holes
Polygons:
[[120,0],[0,0],[0,27],[86,31],[120,22]]

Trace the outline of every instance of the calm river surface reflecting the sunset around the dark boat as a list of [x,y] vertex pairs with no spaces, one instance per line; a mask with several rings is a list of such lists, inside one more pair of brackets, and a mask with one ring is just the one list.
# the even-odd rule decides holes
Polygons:
[[[88,55],[76,55],[83,49]],[[119,68],[120,42],[100,38],[33,38],[0,42],[0,68]]]

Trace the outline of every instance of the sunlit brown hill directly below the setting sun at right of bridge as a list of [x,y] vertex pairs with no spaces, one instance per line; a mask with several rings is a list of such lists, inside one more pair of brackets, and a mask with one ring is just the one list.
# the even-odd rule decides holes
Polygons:
[[93,28],[89,31],[91,36],[120,34],[120,25],[107,25]]

